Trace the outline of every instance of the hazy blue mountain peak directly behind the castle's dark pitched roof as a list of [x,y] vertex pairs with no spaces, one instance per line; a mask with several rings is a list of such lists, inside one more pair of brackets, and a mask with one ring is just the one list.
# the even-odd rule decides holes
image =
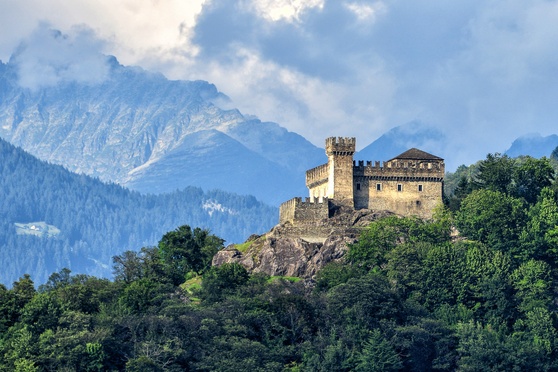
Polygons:
[[385,161],[416,147],[439,154],[444,134],[427,124],[413,121],[395,127],[355,154],[355,160]]

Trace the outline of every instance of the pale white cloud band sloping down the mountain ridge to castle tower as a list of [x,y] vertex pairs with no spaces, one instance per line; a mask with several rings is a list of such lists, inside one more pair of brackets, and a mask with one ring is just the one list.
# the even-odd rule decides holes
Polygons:
[[370,66],[347,86],[266,61],[237,48],[230,64],[213,62],[198,70],[229,95],[245,114],[275,121],[322,146],[325,137],[359,136],[365,146],[389,129],[383,115],[395,82],[381,66]]

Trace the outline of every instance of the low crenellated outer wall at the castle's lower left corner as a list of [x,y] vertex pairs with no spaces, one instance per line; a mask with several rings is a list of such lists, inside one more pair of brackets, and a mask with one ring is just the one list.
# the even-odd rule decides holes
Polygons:
[[279,223],[316,223],[329,217],[329,201],[324,198],[296,197],[279,207]]

